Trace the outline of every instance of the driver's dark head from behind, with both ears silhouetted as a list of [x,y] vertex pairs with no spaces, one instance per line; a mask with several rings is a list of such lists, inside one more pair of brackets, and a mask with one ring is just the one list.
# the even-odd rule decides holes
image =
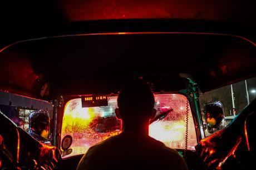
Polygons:
[[142,79],[127,82],[117,98],[116,116],[122,121],[143,122],[155,117],[155,99],[150,84]]

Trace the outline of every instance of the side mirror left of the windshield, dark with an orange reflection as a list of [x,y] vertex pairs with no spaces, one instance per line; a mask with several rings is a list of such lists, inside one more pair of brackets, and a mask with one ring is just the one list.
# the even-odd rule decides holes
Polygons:
[[33,111],[29,114],[28,133],[39,142],[49,141],[50,116],[47,111]]

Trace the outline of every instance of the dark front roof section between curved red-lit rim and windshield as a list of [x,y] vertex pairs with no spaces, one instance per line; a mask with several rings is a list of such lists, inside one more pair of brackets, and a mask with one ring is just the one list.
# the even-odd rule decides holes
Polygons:
[[[168,84],[180,85],[179,73],[186,73],[206,92],[256,76],[255,54],[252,42],[223,34],[61,36],[14,44],[2,51],[0,82],[3,89],[13,87],[43,97],[49,89],[50,94],[116,92],[132,76],[167,77]],[[160,90],[176,91],[178,85]]]

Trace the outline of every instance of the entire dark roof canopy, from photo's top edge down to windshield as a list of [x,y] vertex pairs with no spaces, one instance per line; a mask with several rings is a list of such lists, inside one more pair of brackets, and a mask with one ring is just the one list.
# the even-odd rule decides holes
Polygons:
[[89,81],[188,73],[206,92],[256,76],[254,7],[242,0],[1,1],[1,89],[36,97],[49,90],[48,99],[87,93]]

